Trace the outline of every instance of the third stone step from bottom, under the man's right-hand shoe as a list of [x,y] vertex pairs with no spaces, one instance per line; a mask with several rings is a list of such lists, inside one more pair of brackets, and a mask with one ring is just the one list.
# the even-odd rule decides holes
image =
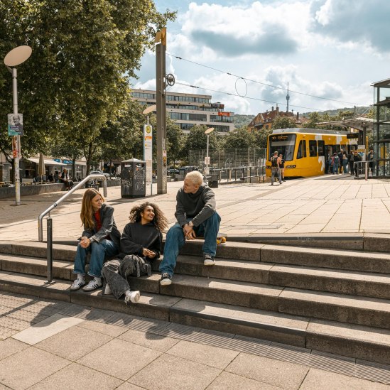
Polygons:
[[[161,260],[155,261],[158,272]],[[308,266],[289,266],[251,261],[217,259],[215,266],[203,266],[202,257],[179,255],[175,273],[233,281],[265,283],[374,298],[390,298],[390,275]]]

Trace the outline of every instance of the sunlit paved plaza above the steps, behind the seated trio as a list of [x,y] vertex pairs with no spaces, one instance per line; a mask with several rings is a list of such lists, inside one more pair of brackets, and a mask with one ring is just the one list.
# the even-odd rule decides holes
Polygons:
[[[119,229],[128,222],[134,203],[156,202],[175,222],[175,195],[183,182],[168,182],[168,193],[144,198],[121,198],[120,187],[107,188]],[[80,208],[85,190],[77,190],[51,212],[54,239],[80,236]],[[101,189],[102,192],[102,189]],[[156,188],[153,189],[156,193]],[[64,195],[50,193],[0,200],[0,240],[37,240],[41,212]],[[215,188],[220,230],[230,236],[264,234],[390,234],[390,181],[354,180],[350,175],[327,175],[287,180],[283,185],[232,183]],[[45,219],[43,237],[45,238]]]

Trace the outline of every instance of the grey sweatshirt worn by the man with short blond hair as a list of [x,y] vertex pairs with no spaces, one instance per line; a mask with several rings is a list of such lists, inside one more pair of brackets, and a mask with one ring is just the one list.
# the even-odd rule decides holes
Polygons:
[[187,223],[187,218],[192,219],[194,226],[199,226],[207,218],[210,218],[215,210],[214,192],[205,183],[202,183],[195,194],[186,194],[183,188],[178,190],[175,217],[181,227]]

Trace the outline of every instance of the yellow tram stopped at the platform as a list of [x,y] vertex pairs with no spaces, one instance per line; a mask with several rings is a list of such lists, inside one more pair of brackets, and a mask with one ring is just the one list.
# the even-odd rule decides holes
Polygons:
[[325,173],[325,158],[357,148],[357,139],[346,131],[321,129],[276,129],[268,136],[266,175],[271,176],[271,156],[283,154],[284,176],[305,178]]

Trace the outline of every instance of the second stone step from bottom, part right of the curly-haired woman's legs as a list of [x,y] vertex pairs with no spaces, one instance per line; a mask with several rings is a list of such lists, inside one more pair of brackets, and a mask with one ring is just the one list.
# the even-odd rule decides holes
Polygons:
[[390,300],[386,299],[188,275],[175,275],[170,286],[159,286],[159,279],[158,274],[130,278],[130,286],[180,298],[196,297],[215,303],[390,329]]

